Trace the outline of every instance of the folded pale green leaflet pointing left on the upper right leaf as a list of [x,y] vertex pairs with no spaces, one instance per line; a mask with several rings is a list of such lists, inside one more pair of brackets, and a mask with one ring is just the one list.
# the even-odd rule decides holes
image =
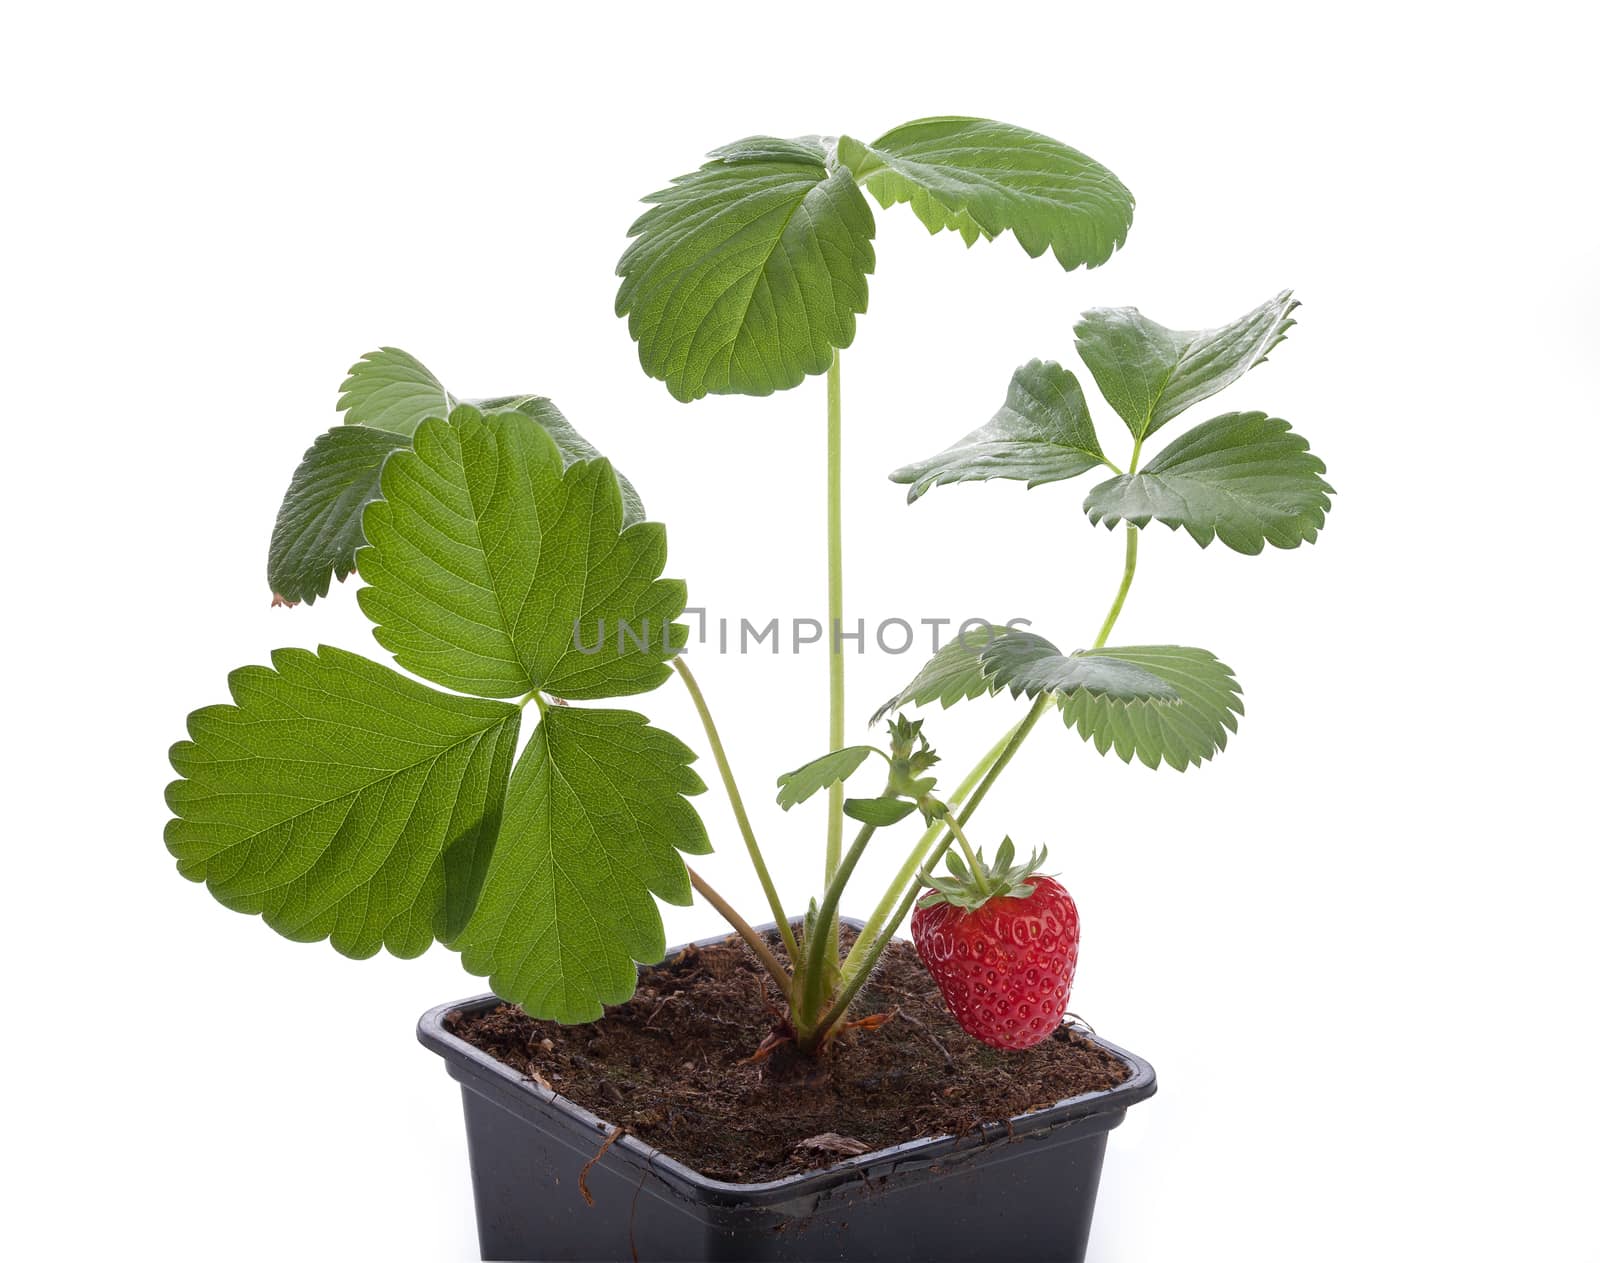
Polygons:
[[1072,479],[1106,464],[1083,387],[1054,360],[1029,360],[1011,375],[1005,403],[981,426],[938,456],[890,474],[909,482],[906,503],[915,504],[946,482],[1013,479],[1030,488]]

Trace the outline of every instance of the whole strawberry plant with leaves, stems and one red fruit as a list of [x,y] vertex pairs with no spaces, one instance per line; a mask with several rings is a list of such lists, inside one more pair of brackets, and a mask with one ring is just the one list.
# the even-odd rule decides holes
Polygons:
[[[275,603],[310,605],[358,575],[358,603],[400,669],[323,647],[234,672],[232,701],[195,711],[171,751],[181,780],[166,794],[166,844],[186,877],[288,938],[349,956],[443,943],[501,997],[566,1023],[627,999],[637,962],[664,954],[656,900],[699,893],[784,999],[770,1042],[813,1055],[843,1029],[917,903],[914,940],[970,1032],[1000,1047],[1050,1034],[1070,992],[1077,909],[1038,871],[1043,852],[1018,863],[1005,839],[986,863],[966,828],[1051,709],[1101,754],[1179,772],[1235,730],[1238,685],[1211,653],[1109,639],[1152,520],[1242,552],[1315,539],[1331,490],[1322,463],[1266,413],[1216,416],[1141,464],[1158,429],[1266,359],[1294,303],[1285,293],[1206,331],[1168,330],[1131,307],[1085,312],[1078,355],[1133,440],[1122,466],[1104,455],[1074,373],[1032,360],[987,424],[894,472],[917,501],[939,485],[1035,487],[1104,467],[1085,511],[1123,527],[1125,568],[1086,648],[966,627],[872,717],[888,720],[882,741],[846,744],[840,352],[874,267],[862,187],[883,208],[909,203],[930,232],[968,245],[1010,232],[1067,271],[1106,263],[1133,215],[1110,171],[1058,141],[928,118],[870,144],[738,141],[648,195],[630,229],[616,309],[642,367],[675,399],[765,395],[827,376],[827,749],[778,776],[782,810],[826,802],[822,880],[803,916],[771,879],[683,656],[686,589],[664,576],[666,530],[638,491],[550,400],[458,397],[394,347],[350,368],[344,424],[294,471],[267,576]],[[691,804],[706,786],[690,744],[616,706],[669,677],[699,716],[774,943],[685,861],[710,850]],[[923,720],[902,711],[1000,692],[1029,709],[939,792]],[[882,784],[846,796],[869,765]],[[907,818],[923,832],[842,954],[846,885],[878,834]],[[936,876],[941,861],[949,876]]]

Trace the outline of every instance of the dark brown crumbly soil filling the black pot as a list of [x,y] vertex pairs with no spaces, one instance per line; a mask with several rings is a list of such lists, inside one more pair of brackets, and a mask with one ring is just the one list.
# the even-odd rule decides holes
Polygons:
[[789,1048],[746,1061],[773,1031],[778,992],[730,938],[645,968],[634,999],[587,1026],[534,1021],[512,1005],[451,1013],[446,1024],[693,1170],[738,1183],[958,1135],[1128,1077],[1069,1028],[1026,1052],[979,1044],[902,941],[883,952],[853,1016],[890,1012],[883,1026],[835,1039],[818,1061]]

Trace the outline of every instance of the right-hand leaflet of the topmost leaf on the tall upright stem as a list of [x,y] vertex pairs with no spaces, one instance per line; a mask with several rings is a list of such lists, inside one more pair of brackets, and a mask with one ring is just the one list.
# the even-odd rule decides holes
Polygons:
[[930,232],[971,245],[1006,229],[1030,258],[1096,267],[1128,239],[1133,194],[1077,149],[989,118],[918,118],[872,144],[838,138],[838,160],[888,208],[909,202]]

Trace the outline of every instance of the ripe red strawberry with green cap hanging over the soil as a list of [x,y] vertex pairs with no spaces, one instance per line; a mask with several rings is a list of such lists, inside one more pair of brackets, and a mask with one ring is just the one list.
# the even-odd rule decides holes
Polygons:
[[995,1048],[1030,1048],[1061,1024],[1078,967],[1078,909],[1054,877],[1011,866],[1011,840],[994,868],[936,877],[910,919],[912,941],[950,1013]]

